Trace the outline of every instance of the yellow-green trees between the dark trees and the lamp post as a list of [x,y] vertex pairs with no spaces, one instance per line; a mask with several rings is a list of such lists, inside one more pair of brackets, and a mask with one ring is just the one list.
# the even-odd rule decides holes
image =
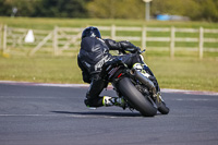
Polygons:
[[92,17],[100,19],[143,19],[142,0],[93,0],[87,4]]

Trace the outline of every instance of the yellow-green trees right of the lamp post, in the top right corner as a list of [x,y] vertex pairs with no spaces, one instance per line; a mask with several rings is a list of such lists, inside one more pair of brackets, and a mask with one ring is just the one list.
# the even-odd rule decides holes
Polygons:
[[152,13],[189,16],[192,20],[218,22],[217,0],[154,0]]

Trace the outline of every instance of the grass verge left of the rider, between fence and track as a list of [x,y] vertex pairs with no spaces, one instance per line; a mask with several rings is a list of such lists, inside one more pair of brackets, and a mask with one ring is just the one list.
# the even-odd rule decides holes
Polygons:
[[44,83],[82,83],[76,59],[70,57],[0,58],[0,80]]

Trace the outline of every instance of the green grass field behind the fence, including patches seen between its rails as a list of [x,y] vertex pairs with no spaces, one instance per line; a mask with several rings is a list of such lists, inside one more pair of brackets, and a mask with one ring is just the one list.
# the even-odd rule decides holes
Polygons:
[[[7,24],[9,27],[21,27],[21,28],[33,28],[33,29],[45,29],[52,31],[55,26],[59,27],[86,27],[88,25],[95,26],[111,26],[114,24],[116,26],[149,26],[149,27],[183,27],[183,28],[199,28],[201,26],[204,28],[217,28],[217,23],[208,23],[208,22],[159,22],[159,21],[150,21],[146,22],[143,20],[98,20],[98,19],[41,19],[41,17],[0,17],[0,24]],[[110,36],[109,31],[101,31],[102,37]],[[117,36],[142,36],[141,32],[117,32]],[[198,38],[198,33],[175,33],[175,36],[181,38],[192,37]],[[147,32],[147,37],[170,37],[170,32]],[[205,33],[205,38],[218,38],[218,34]],[[60,39],[61,40],[61,39]],[[52,41],[50,40],[50,48],[52,47]],[[135,45],[141,46],[141,41],[133,41]],[[1,44],[2,45],[2,44]],[[59,45],[61,46],[61,45]],[[204,43],[205,50],[206,48],[217,48],[218,43]],[[23,53],[26,55],[27,50],[29,50],[29,45],[17,45],[16,48],[13,47],[12,43],[8,41],[8,47],[11,47],[12,51],[16,50],[16,48],[23,49]],[[158,48],[167,48],[170,47],[169,41],[147,41],[146,47],[156,47]],[[185,41],[177,41],[175,47],[198,47],[198,43],[185,43]],[[26,48],[26,49],[25,49]],[[40,49],[39,51],[41,51]],[[185,49],[184,49],[185,50]],[[177,48],[175,48],[177,51]],[[189,55],[189,53],[187,53]],[[207,53],[206,57],[214,57],[215,55]],[[216,56],[215,56],[216,58]]]

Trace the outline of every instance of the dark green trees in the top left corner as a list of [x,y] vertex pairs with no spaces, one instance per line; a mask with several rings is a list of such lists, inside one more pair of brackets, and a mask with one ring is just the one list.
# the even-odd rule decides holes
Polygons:
[[86,17],[89,0],[0,0],[0,15],[10,16],[17,8],[17,16]]

